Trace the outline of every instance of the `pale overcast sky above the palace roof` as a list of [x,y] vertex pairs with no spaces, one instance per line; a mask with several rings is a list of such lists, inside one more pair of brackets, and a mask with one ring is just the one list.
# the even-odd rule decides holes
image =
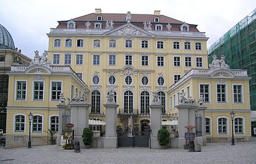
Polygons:
[[34,50],[40,54],[48,50],[50,28],[57,27],[57,21],[94,13],[153,14],[161,10],[166,15],[189,24],[197,24],[200,32],[206,32],[210,47],[229,29],[256,7],[255,0],[128,0],[128,1],[66,1],[66,0],[0,0],[0,24],[9,30],[15,47],[23,54],[34,57]]

